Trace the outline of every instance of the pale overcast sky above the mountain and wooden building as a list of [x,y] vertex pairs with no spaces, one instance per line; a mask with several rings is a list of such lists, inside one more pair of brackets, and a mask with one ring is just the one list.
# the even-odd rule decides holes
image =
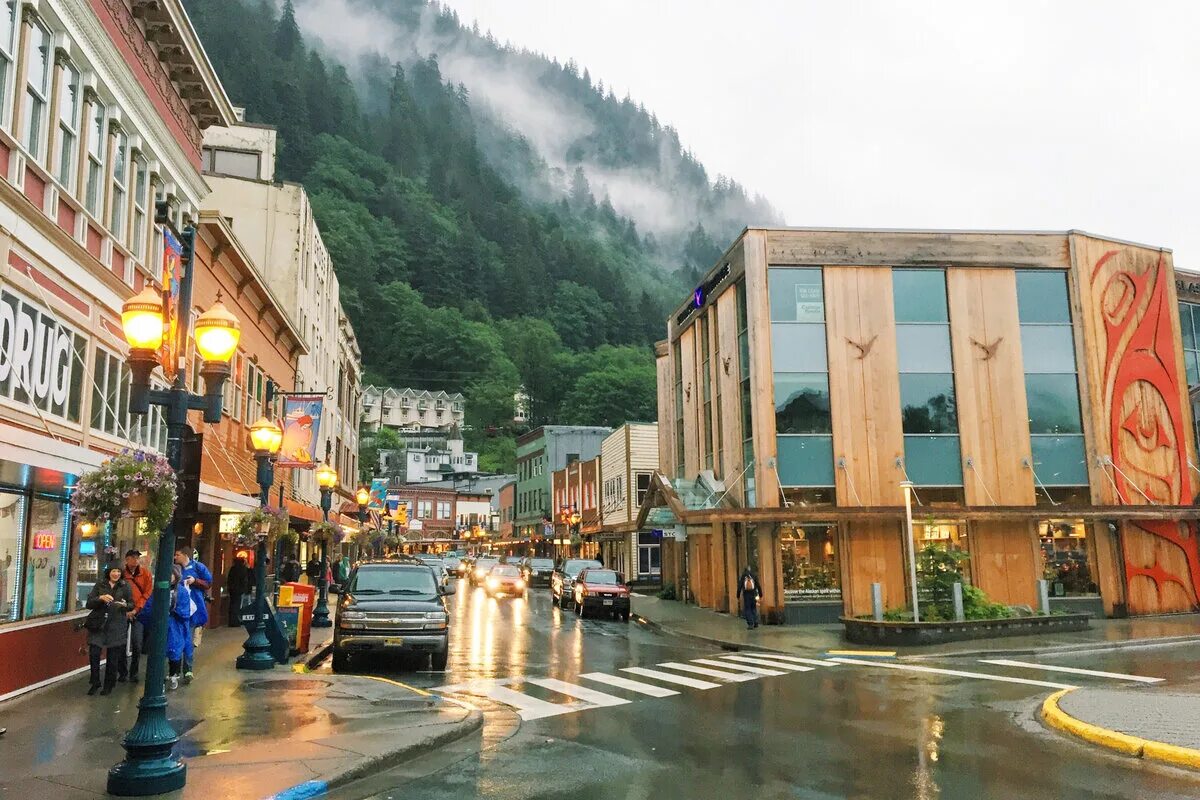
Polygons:
[[445,5],[628,91],[788,224],[1081,228],[1200,269],[1200,2]]

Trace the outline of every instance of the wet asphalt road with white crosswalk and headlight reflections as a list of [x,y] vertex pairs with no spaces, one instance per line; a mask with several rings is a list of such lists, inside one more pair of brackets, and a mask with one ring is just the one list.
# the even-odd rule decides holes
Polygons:
[[[444,674],[366,668],[484,709],[482,740],[331,798],[1200,796],[1196,776],[1098,752],[1034,717],[1054,685],[1136,685],[1127,679],[1032,657],[760,660],[636,622],[580,620],[544,589],[496,601],[460,584],[452,600]],[[1044,663],[1188,684],[1195,656],[1147,649]]]

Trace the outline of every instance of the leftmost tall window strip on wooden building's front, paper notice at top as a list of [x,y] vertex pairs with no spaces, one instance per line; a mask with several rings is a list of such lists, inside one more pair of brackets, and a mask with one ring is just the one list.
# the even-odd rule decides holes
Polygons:
[[821,270],[772,267],[767,282],[780,485],[833,486]]

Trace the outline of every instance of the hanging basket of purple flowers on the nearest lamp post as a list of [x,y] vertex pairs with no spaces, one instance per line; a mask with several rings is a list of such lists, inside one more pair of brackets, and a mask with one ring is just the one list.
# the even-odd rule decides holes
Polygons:
[[71,509],[80,519],[97,524],[145,517],[146,529],[157,533],[175,513],[176,491],[175,470],[163,456],[125,451],[79,479]]

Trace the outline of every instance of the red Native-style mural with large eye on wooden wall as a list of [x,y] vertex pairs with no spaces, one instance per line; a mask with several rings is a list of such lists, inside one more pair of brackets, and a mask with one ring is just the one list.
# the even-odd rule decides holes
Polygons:
[[[1104,253],[1092,269],[1093,289],[1104,282],[1099,296],[1106,345],[1105,413],[1116,467],[1112,477],[1120,503],[1144,503],[1145,493],[1156,504],[1181,505],[1192,500],[1192,481],[1180,401],[1183,372],[1175,353],[1165,260],[1160,253],[1153,266],[1133,271],[1132,264],[1114,261],[1118,254],[1116,249]],[[1138,521],[1130,527],[1177,547],[1188,575],[1172,572],[1158,554],[1150,566],[1134,564],[1126,542],[1126,579],[1148,578],[1159,597],[1165,584],[1177,584],[1195,603],[1200,587],[1196,524],[1184,525],[1187,534],[1183,525],[1169,519]]]

